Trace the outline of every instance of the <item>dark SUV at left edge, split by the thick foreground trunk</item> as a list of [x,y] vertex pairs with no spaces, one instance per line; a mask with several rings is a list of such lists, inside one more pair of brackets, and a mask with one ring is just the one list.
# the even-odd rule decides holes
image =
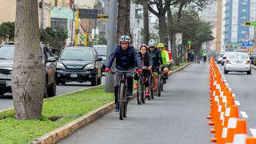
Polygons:
[[[46,97],[52,97],[56,94],[56,58],[50,53],[50,50],[41,42],[42,56],[46,66]],[[11,74],[14,64],[14,43],[4,44],[0,47],[0,95],[7,92],[11,93]]]

